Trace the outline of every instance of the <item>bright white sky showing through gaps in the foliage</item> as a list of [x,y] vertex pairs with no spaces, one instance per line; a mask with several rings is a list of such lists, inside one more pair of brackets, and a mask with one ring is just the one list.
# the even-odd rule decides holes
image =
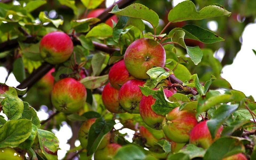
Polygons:
[[[106,6],[111,6],[114,0],[107,0]],[[183,0],[174,0],[173,6],[177,5]],[[210,21],[207,23],[208,29],[211,31],[217,31],[218,24],[215,21]],[[255,40],[256,37],[256,23],[248,24],[245,27],[245,30],[242,34],[242,44],[241,50],[237,53],[234,58],[234,62],[231,65],[226,65],[222,69],[221,76],[230,82],[231,86],[235,90],[242,91],[246,96],[252,95],[256,98],[256,85],[254,81],[256,79],[255,69],[256,69],[256,55],[253,53],[252,49],[256,50]],[[215,56],[218,56],[220,61],[223,58],[224,50],[221,48],[216,51]],[[4,67],[0,67],[0,82],[5,82],[5,77],[7,76],[7,70]],[[6,85],[16,87],[19,85],[19,82],[15,79],[14,75],[11,73],[7,79]],[[45,120],[48,118],[49,114],[47,113],[47,107],[42,106],[41,109],[37,112],[40,120]],[[4,115],[2,112],[0,115]],[[4,115],[5,116],[5,115]],[[6,117],[6,116],[5,116]],[[7,117],[6,117],[7,120]],[[116,120],[116,129],[122,127],[122,124],[118,123]],[[62,127],[60,130],[53,129],[52,132],[59,139],[60,150],[58,150],[58,159],[62,159],[66,151],[70,149],[70,145],[67,144],[67,141],[72,137],[72,132],[70,126],[66,122],[62,122]],[[132,141],[132,136],[134,134],[133,130],[124,128],[120,130],[122,134],[128,133],[126,139]],[[63,134],[65,133],[65,134]],[[79,146],[80,142],[77,140],[75,146]]]

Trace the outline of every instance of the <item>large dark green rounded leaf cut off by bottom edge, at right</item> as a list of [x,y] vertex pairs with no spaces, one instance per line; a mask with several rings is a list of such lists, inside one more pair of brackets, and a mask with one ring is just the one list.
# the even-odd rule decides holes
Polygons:
[[221,160],[222,158],[244,151],[243,144],[237,138],[223,137],[213,142],[213,144],[207,149],[203,159]]

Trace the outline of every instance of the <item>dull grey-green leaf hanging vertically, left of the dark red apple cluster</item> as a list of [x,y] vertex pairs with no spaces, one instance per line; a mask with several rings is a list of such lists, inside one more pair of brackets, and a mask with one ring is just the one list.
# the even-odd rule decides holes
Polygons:
[[93,58],[91,60],[91,68],[93,69],[92,76],[97,76],[101,73],[102,70],[102,64],[104,63],[106,59],[106,55],[103,53],[96,53],[93,55]]

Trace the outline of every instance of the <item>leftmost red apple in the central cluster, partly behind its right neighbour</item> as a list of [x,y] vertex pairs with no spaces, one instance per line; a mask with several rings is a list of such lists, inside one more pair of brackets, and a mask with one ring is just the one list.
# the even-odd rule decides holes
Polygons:
[[119,90],[111,87],[110,83],[104,87],[102,91],[102,101],[104,106],[109,112],[112,113],[124,113],[126,112],[118,103],[118,92]]

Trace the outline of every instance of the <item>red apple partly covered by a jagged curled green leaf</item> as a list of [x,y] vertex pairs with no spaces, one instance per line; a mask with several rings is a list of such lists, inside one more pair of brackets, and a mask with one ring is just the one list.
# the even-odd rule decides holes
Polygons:
[[[154,89],[157,90],[157,89]],[[163,90],[166,97],[170,97],[173,95],[173,92],[164,89]],[[139,103],[139,114],[141,115],[142,120],[151,128],[161,130],[162,129],[162,122],[165,116],[158,115],[155,113],[151,106],[155,104],[155,99],[153,96],[143,96],[141,98],[141,102]]]

